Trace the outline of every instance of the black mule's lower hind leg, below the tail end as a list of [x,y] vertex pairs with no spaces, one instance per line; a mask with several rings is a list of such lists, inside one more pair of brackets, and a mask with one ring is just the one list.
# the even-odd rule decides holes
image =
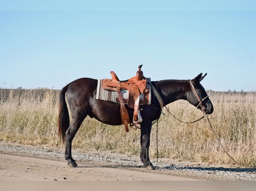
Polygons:
[[68,165],[70,167],[77,167],[77,163],[72,158],[71,148],[72,148],[72,140],[74,139],[80,125],[83,120],[72,120],[71,125],[66,131],[66,149],[65,149],[65,159],[68,161]]

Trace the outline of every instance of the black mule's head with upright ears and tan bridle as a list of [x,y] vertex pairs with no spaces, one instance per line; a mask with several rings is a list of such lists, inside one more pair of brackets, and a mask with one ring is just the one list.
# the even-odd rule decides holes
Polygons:
[[[207,74],[202,76],[201,73],[196,78],[190,81],[191,89],[190,91],[188,91],[187,100],[189,103],[195,105],[196,107],[198,106],[199,109],[203,109],[207,114],[211,114],[213,112],[213,104],[209,99],[204,87],[200,84],[200,82],[205,78],[206,75]],[[196,93],[193,92],[193,87]],[[199,99],[201,100],[202,104],[200,104]]]

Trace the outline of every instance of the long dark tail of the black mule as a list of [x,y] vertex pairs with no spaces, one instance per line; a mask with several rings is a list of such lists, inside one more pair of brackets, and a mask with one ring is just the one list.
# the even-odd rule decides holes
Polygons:
[[62,88],[59,95],[59,115],[58,115],[58,137],[65,143],[66,131],[69,128],[69,110],[65,100],[65,94],[69,88],[69,84]]

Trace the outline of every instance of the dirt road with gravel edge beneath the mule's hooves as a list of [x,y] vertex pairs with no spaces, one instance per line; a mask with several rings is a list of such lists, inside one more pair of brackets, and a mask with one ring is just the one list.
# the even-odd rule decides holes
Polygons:
[[155,170],[141,167],[137,156],[74,149],[71,168],[63,149],[0,144],[0,180],[256,180],[253,168],[161,159]]

